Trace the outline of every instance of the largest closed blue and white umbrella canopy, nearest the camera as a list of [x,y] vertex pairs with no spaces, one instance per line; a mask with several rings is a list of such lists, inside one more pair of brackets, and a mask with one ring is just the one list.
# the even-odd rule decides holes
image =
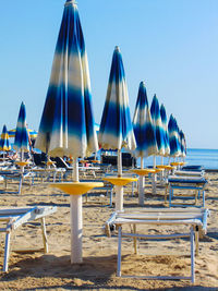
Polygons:
[[74,0],[64,5],[35,147],[55,157],[84,157],[98,150],[88,62]]

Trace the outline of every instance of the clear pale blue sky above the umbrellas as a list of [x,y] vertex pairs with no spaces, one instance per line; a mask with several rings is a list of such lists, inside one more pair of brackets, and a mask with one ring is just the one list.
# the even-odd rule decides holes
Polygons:
[[[38,130],[64,0],[0,1],[0,131],[26,105]],[[173,113],[189,147],[218,148],[218,1],[77,0],[100,122],[120,46],[133,116],[141,81]]]

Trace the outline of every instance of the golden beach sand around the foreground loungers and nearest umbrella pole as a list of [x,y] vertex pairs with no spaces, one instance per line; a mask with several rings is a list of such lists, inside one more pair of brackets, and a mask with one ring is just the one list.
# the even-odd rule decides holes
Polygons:
[[[104,223],[113,208],[107,207],[109,199],[102,195],[88,197],[83,203],[83,257],[80,265],[70,263],[70,204],[69,195],[51,189],[48,183],[24,183],[23,193],[15,194],[17,183],[8,190],[0,185],[1,206],[55,205],[57,213],[46,218],[49,253],[11,252],[9,272],[0,272],[0,290],[218,290],[218,173],[207,173],[206,207],[210,209],[207,235],[199,241],[199,255],[195,259],[195,283],[189,280],[144,280],[118,278],[118,238],[107,238]],[[152,195],[145,190],[145,206],[162,207],[164,190]],[[138,209],[137,197],[125,189],[124,208]],[[162,233],[166,227],[147,227],[152,233]],[[3,264],[1,235],[0,268]],[[43,247],[41,231],[37,221],[14,231],[11,248]],[[145,241],[138,244],[138,254],[133,253],[133,243],[123,239],[122,275],[190,276],[190,242],[186,239]]]

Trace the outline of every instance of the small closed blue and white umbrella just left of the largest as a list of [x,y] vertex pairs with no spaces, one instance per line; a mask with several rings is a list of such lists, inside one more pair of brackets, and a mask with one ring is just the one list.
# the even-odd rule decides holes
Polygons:
[[26,108],[24,102],[21,104],[20,112],[19,112],[19,120],[16,123],[16,132],[14,138],[13,148],[16,151],[28,151],[28,132],[26,129]]

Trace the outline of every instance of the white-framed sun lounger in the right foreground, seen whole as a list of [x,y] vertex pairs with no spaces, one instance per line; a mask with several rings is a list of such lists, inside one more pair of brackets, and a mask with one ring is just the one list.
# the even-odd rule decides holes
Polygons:
[[[198,252],[198,233],[206,233],[207,217],[209,211],[205,208],[147,208],[141,211],[123,211],[113,213],[110,219],[106,222],[105,230],[108,237],[111,237],[113,230],[118,230],[118,269],[117,276],[121,277],[121,246],[123,238],[132,238],[134,242],[134,251],[137,253],[137,239],[178,239],[190,238],[191,242],[191,276],[189,277],[164,277],[164,276],[122,276],[128,278],[144,278],[144,279],[187,279],[194,282],[195,280],[195,247]],[[128,232],[124,226],[133,226],[133,230]],[[169,226],[170,230],[174,230],[171,234],[143,234],[136,231],[136,226]],[[178,233],[178,226],[186,227],[187,232]],[[126,229],[126,228],[125,228]],[[195,242],[195,243],[194,243]]]

